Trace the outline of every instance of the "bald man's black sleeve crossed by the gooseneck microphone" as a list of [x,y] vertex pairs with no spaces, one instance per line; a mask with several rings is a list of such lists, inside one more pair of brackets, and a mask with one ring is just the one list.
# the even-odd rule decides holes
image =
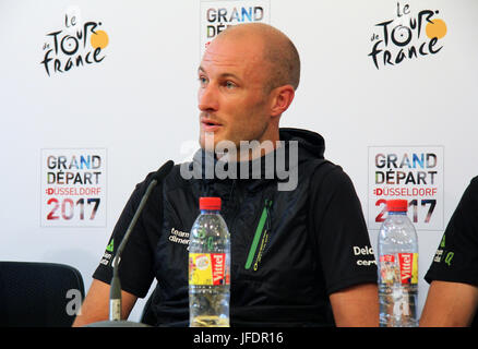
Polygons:
[[[110,284],[112,277],[112,260],[124,233],[127,232],[131,219],[140,205],[141,198],[146,191],[148,178],[144,182],[136,185],[124,206],[111,233],[105,254],[93,274],[93,278]],[[138,219],[136,226],[131,231],[119,264],[121,289],[139,298],[143,298],[147,294],[154,278],[153,263],[155,239],[152,237],[152,232],[148,231],[150,224],[147,217],[152,216],[152,210],[157,212],[158,198],[162,198],[159,185],[153,190],[146,205],[144,206],[142,215]]]

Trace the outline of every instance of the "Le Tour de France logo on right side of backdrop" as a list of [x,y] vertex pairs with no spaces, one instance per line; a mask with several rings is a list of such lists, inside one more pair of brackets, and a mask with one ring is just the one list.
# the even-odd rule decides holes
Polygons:
[[442,50],[445,35],[446,23],[439,10],[415,11],[397,2],[395,17],[375,24],[369,57],[377,69],[430,57]]

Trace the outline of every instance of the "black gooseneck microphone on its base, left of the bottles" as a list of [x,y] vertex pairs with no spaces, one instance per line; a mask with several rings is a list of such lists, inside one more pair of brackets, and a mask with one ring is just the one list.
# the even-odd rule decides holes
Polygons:
[[[143,197],[141,198],[140,205],[138,206],[138,209],[134,213],[133,219],[131,219],[131,222],[128,226],[127,232],[124,233],[124,237],[123,237],[123,239],[118,248],[116,256],[112,260],[112,278],[111,278],[111,285],[110,285],[110,292],[109,292],[109,321],[104,321],[104,322],[91,324],[89,327],[96,327],[96,326],[138,327],[138,326],[142,326],[142,324],[135,324],[135,323],[131,323],[131,322],[121,321],[121,282],[120,282],[120,278],[118,275],[119,263],[121,261],[121,254],[124,250],[124,246],[128,243],[128,239],[130,238],[131,231],[134,229],[136,221],[140,218],[140,215],[144,208],[144,205],[146,204],[146,201],[151,195],[151,192],[153,191],[154,186],[158,182],[163,181],[163,179],[171,171],[174,166],[175,166],[175,163],[171,160],[168,160],[152,176],[152,179],[150,181],[150,184],[147,185],[146,192],[144,193]],[[145,325],[143,325],[143,326],[145,326]]]

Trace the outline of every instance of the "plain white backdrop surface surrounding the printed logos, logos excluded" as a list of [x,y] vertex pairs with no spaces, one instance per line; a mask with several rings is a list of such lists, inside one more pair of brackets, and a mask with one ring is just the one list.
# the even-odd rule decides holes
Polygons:
[[[442,147],[443,209],[434,214],[442,215],[446,225],[478,172],[478,2],[271,0],[268,4],[267,22],[295,41],[302,61],[301,83],[282,125],[310,129],[325,137],[325,156],[352,179],[367,219],[373,174],[369,147]],[[251,5],[254,1],[242,1],[242,7]],[[200,10],[201,2],[193,0],[0,0],[0,260],[70,264],[89,287],[135,183],[167,159],[182,161],[189,154],[181,149],[198,139],[196,69],[205,27]],[[446,23],[446,34],[435,45],[440,51],[394,65],[383,65],[379,56],[377,69],[368,56],[378,40],[372,35],[383,36],[377,24],[397,20],[398,14],[417,19],[422,10],[432,10]],[[103,60],[63,73],[53,72],[51,61],[48,75],[41,64],[55,45],[48,34],[62,31],[58,39],[65,35],[72,14],[76,28],[95,22],[106,33],[108,44],[98,55]],[[417,50],[430,41],[423,33],[416,40],[413,33],[410,45],[417,43]],[[79,53],[86,60],[87,47],[82,39],[79,43]],[[64,57],[59,59],[65,63]],[[69,221],[63,227],[41,226],[43,149],[106,149],[106,197],[98,207],[105,214],[101,227],[81,221],[75,227]],[[370,229],[373,245],[377,232]],[[428,290],[422,277],[442,232],[418,231],[420,312]],[[142,304],[130,318],[139,320]]]

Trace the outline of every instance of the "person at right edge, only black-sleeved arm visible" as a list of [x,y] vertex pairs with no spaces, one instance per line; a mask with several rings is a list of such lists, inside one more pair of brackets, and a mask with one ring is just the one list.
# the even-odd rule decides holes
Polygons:
[[[478,177],[463,194],[425,279],[420,326],[469,326],[478,308]],[[475,321],[474,325],[478,325]]]

